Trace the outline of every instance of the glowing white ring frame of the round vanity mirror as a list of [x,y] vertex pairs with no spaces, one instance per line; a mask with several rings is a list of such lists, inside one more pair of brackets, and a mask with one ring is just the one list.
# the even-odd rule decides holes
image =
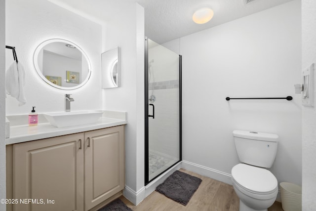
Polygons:
[[[49,43],[52,43],[52,42],[65,42],[67,44],[71,44],[71,45],[74,45],[81,53],[82,55],[84,56],[84,58],[86,59],[87,63],[88,63],[88,74],[87,74],[87,77],[84,79],[84,81],[81,82],[81,84],[78,84],[76,86],[72,86],[72,87],[63,87],[63,86],[59,86],[59,85],[56,85],[56,84],[53,84],[51,83],[50,81],[48,81],[45,76],[43,75],[43,73],[41,72],[40,70],[40,67],[39,67],[39,62],[38,62],[38,56],[39,56],[39,53],[40,53],[40,50],[46,45],[46,44],[49,44]],[[88,56],[86,55],[86,53],[77,45],[75,44],[74,42],[70,42],[68,40],[64,40],[64,39],[49,39],[49,40],[46,40],[46,41],[43,41],[41,42],[37,48],[35,49],[34,51],[34,54],[33,54],[33,64],[34,64],[34,67],[35,67],[35,70],[37,72],[37,74],[40,76],[40,78],[46,83],[46,84],[49,84],[55,88],[58,88],[58,89],[62,89],[62,90],[73,90],[73,89],[77,89],[81,86],[83,86],[84,84],[86,84],[88,82],[88,80],[90,79],[91,77],[91,63],[90,63],[90,60],[88,58]]]

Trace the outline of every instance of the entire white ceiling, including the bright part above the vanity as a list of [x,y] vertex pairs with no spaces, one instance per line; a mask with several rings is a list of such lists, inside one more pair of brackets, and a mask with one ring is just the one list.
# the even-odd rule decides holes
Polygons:
[[[124,2],[138,2],[145,8],[145,35],[164,43],[195,32],[217,26],[291,0],[49,0],[91,19],[106,21]],[[214,17],[206,24],[192,20],[194,11],[203,5],[214,10]]]

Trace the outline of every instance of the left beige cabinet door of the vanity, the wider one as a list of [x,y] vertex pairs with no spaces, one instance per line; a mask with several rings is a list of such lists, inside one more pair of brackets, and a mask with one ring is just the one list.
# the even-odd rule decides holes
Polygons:
[[83,211],[83,138],[77,133],[13,146],[15,211]]

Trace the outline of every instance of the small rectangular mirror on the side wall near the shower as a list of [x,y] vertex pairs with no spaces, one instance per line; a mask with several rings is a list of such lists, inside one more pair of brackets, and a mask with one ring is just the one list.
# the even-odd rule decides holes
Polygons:
[[102,53],[102,88],[119,86],[119,48]]

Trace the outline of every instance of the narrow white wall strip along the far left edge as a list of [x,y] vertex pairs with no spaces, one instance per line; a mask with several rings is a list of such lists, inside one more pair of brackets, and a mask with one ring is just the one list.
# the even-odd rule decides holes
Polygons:
[[[0,199],[5,199],[5,0],[0,0]],[[10,51],[9,49],[7,49]],[[0,204],[5,211],[5,204]]]

